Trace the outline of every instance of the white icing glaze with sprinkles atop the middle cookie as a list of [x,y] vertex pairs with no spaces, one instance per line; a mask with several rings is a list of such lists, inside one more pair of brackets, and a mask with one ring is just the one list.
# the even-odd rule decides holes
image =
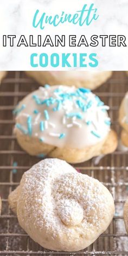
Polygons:
[[[82,92],[81,89],[83,90],[68,86],[46,86],[30,93],[16,107],[15,132],[22,132],[22,126],[23,133],[57,147],[82,149],[97,144],[110,131],[110,119],[106,112],[108,107],[91,91],[84,89]],[[71,96],[71,93],[74,95]],[[49,98],[53,100],[53,104],[47,106]],[[46,103],[41,104],[44,100]],[[56,107],[59,110],[53,111]],[[72,117],[68,117],[68,114],[73,113]],[[41,131],[43,128],[44,131]]]

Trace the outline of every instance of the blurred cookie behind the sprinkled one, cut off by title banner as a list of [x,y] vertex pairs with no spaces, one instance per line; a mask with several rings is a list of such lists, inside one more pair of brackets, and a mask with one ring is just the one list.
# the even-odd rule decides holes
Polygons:
[[41,85],[67,85],[95,89],[112,75],[111,71],[27,71]]

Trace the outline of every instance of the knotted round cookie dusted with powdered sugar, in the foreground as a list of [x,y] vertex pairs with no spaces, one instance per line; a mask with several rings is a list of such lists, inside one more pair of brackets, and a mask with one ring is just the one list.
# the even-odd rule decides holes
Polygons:
[[24,231],[55,251],[86,248],[114,214],[107,188],[60,159],[44,159],[25,172],[9,204]]

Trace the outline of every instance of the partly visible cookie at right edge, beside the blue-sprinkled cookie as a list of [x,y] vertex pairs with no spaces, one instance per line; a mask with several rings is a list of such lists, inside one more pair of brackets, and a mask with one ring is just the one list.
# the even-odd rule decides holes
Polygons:
[[128,92],[125,94],[119,109],[119,123],[123,130],[121,131],[121,142],[128,147]]

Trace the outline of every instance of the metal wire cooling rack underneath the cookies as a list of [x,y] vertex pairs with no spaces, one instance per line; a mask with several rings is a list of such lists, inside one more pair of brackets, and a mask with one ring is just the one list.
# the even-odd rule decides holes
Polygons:
[[[110,106],[112,127],[120,133],[118,109],[128,89],[125,72],[114,72],[110,80],[95,93]],[[0,86],[0,194],[2,215],[0,217],[0,255],[128,255],[128,236],[123,221],[123,206],[128,195],[128,152],[116,151],[100,159],[96,165],[91,161],[75,165],[83,174],[98,178],[110,190],[116,205],[116,214],[107,231],[84,251],[76,253],[54,252],[42,248],[24,233],[16,216],[8,206],[8,195],[21,180],[23,172],[39,161],[23,152],[13,135],[12,110],[29,92],[39,85],[23,72],[9,72]],[[17,162],[16,171],[12,166]]]

